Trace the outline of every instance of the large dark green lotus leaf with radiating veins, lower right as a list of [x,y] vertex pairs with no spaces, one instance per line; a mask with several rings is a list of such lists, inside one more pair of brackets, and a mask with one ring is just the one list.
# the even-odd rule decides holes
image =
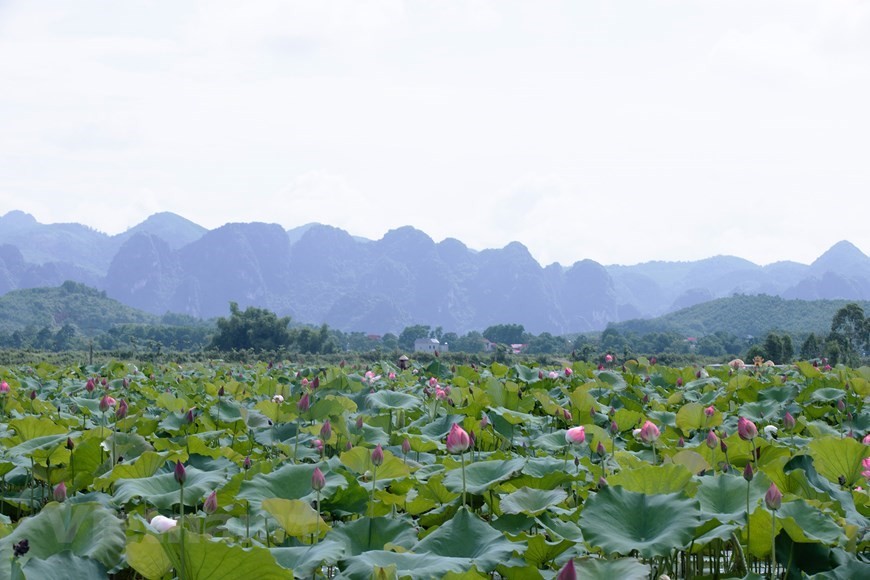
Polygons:
[[682,494],[647,495],[606,487],[591,495],[580,514],[589,545],[605,553],[644,558],[685,548],[701,523],[698,502]]

